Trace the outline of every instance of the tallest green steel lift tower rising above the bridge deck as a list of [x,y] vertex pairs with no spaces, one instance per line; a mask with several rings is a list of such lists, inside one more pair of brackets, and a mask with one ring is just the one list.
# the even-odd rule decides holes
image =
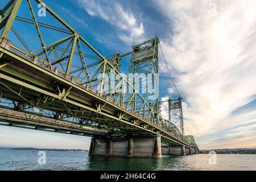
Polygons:
[[128,74],[133,80],[133,86],[150,107],[146,107],[137,97],[131,97],[131,108],[145,115],[154,123],[159,124],[158,108],[158,44],[159,39],[154,38],[133,46]]

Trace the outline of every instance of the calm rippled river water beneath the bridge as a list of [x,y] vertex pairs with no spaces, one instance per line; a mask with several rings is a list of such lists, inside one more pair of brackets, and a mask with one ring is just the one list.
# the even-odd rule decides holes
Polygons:
[[256,170],[256,155],[218,154],[210,165],[208,154],[163,156],[162,159],[104,158],[88,152],[46,151],[46,165],[38,151],[0,150],[0,170]]

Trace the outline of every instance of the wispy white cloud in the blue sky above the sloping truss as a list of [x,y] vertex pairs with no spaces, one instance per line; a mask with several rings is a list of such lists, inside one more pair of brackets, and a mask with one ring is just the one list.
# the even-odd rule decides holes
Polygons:
[[97,16],[118,27],[118,38],[127,44],[143,40],[144,26],[130,10],[117,1],[77,0],[90,16]]

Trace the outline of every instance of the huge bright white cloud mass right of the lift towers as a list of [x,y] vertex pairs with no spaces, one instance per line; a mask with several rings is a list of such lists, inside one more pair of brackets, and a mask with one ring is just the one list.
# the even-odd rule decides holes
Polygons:
[[[187,100],[185,133],[205,146],[209,134],[256,122],[255,106],[232,115],[256,99],[256,1],[158,4],[173,28],[162,47]],[[160,69],[166,71],[164,65]],[[255,143],[246,133],[242,136],[244,143]],[[232,142],[226,135],[222,140]]]

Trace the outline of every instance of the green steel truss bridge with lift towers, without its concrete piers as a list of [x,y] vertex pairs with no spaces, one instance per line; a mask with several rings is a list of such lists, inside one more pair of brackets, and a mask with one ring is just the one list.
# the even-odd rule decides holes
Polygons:
[[[168,101],[169,120],[160,115],[157,37],[104,57],[41,0],[1,1],[0,9],[3,123],[90,137],[158,135],[164,144],[197,147],[184,135],[181,98]],[[154,73],[151,88],[122,76],[120,61],[129,55],[127,73]]]

